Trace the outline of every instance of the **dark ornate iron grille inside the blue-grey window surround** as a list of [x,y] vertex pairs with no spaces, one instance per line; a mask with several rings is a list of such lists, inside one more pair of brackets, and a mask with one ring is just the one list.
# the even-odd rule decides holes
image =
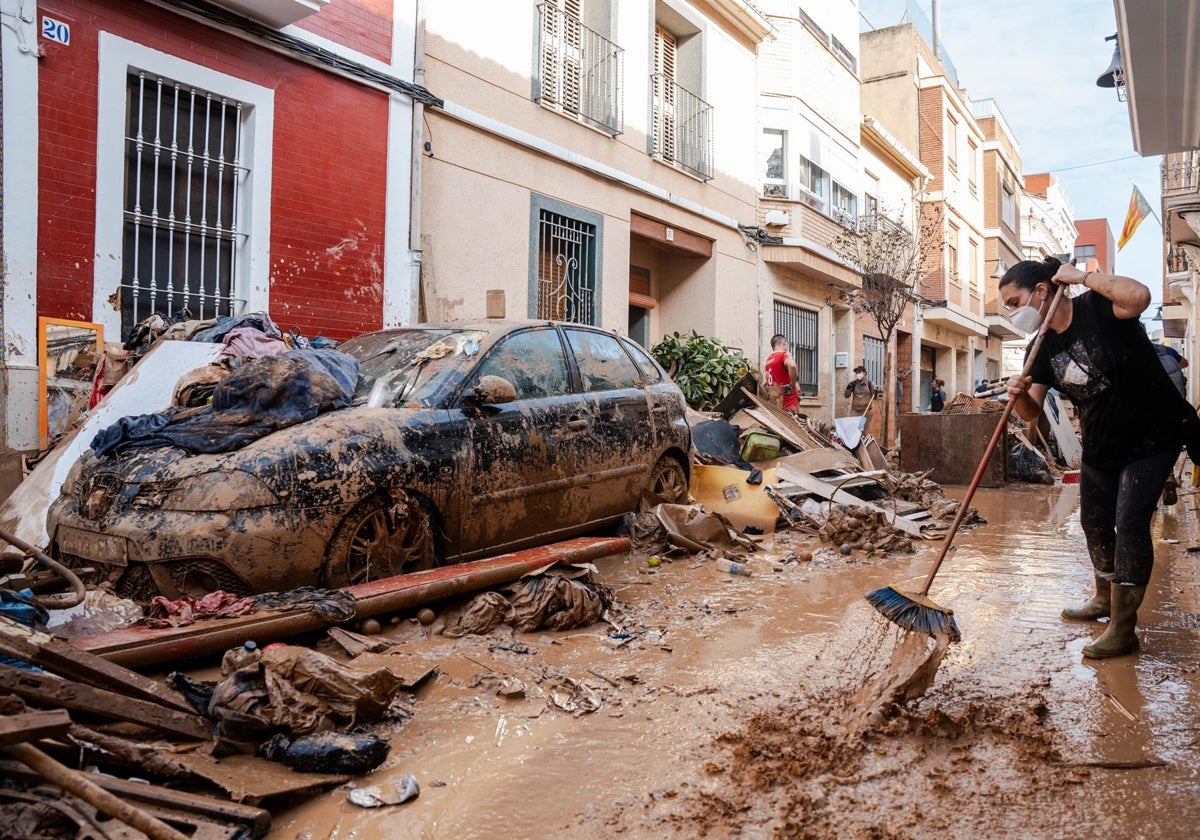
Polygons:
[[595,324],[596,229],[541,210],[538,218],[538,317]]

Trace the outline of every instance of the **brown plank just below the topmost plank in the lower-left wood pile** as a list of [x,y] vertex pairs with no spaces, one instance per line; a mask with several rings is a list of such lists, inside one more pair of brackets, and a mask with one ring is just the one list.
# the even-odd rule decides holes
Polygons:
[[56,679],[46,673],[14,668],[11,665],[0,665],[0,689],[34,703],[61,706],[114,720],[126,720],[184,738],[209,740],[212,737],[209,721],[197,714],[164,709],[157,703],[134,700],[83,683]]

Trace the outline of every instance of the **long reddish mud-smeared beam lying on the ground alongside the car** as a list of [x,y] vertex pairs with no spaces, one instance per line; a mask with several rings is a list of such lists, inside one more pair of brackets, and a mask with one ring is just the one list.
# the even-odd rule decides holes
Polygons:
[[[346,587],[354,595],[356,619],[439,601],[454,595],[509,583],[556,563],[583,563],[629,551],[624,538],[581,538],[510,554],[384,577]],[[192,659],[227,650],[247,641],[259,644],[337,624],[311,612],[253,613],[182,628],[125,628],[72,638],[82,650],[126,667]]]

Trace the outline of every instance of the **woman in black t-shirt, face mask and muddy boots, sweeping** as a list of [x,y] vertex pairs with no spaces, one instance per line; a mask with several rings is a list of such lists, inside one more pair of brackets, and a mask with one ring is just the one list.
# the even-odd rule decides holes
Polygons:
[[1000,281],[1000,299],[1016,329],[1040,326],[1056,284],[1086,292],[1060,302],[1031,376],[1012,377],[1008,395],[1026,422],[1037,419],[1051,386],[1079,410],[1080,523],[1096,570],[1096,595],[1062,614],[1075,620],[1109,616],[1108,628],[1084,655],[1121,656],[1138,649],[1138,607],[1154,564],[1150,520],[1183,445],[1188,406],[1139,320],[1150,289],[1054,257],[1025,260]]

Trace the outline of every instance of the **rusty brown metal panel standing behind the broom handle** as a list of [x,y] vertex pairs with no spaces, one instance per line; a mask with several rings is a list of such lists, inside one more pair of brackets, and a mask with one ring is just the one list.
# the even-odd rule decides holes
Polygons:
[[[920,473],[941,485],[970,485],[988,443],[1000,422],[998,414],[904,414],[900,416],[900,469]],[[1000,487],[1007,480],[1008,434],[1001,436],[979,484]]]

